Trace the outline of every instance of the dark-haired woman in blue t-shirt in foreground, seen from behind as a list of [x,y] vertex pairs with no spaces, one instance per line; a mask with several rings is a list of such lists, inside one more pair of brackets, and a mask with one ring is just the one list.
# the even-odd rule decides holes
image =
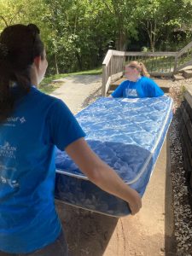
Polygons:
[[35,25],[6,27],[0,35],[0,255],[67,255],[55,211],[55,146],[101,189],[142,206],[131,189],[84,140],[61,100],[37,87],[48,66]]

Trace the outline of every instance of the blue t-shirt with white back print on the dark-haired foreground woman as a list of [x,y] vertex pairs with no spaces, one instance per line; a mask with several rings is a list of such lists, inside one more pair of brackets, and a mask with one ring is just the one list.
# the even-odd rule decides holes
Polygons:
[[30,253],[55,241],[55,145],[84,137],[61,100],[32,87],[0,125],[0,251]]

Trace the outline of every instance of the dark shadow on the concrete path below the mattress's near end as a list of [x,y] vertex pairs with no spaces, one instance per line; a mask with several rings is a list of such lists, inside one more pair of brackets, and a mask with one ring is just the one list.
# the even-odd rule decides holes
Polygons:
[[69,256],[102,256],[119,218],[58,202],[57,210],[67,236]]

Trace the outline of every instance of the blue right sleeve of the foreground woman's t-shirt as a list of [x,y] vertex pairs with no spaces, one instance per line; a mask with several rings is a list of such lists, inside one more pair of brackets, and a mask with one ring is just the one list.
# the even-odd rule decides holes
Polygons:
[[80,137],[85,137],[73,113],[64,102],[58,99],[49,113],[49,127],[51,143],[62,151]]

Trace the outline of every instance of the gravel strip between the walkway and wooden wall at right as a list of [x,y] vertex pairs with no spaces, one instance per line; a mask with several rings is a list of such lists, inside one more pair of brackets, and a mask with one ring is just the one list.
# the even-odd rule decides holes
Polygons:
[[[174,100],[176,109],[183,101],[183,85],[192,84],[192,79],[173,82],[170,96]],[[175,237],[177,241],[177,256],[192,255],[192,211],[189,206],[189,191],[183,169],[183,152],[178,132],[178,113],[172,120],[170,129],[170,151],[172,164],[172,195],[175,223]]]

